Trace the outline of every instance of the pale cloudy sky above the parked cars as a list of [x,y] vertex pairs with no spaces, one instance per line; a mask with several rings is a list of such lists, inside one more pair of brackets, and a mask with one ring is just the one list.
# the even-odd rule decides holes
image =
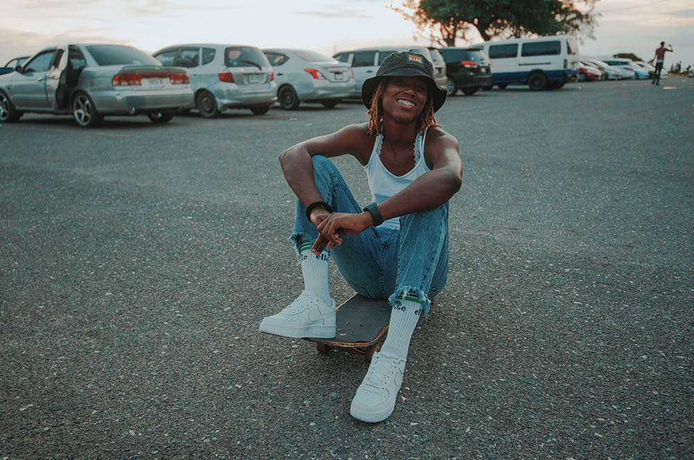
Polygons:
[[[221,42],[305,48],[332,55],[379,44],[430,44],[389,6],[399,0],[0,0],[0,65],[71,42],[130,44],[154,52],[170,44]],[[600,0],[595,39],[583,56],[632,52],[649,60],[661,41],[675,49],[666,67],[694,65],[694,1]],[[468,35],[457,46],[482,42]]]

